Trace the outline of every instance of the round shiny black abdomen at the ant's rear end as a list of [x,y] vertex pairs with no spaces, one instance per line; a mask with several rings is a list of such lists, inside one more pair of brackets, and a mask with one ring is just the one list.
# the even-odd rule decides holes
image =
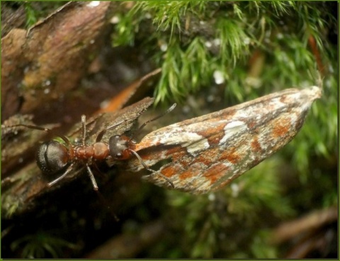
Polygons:
[[42,143],[35,157],[38,167],[45,174],[55,174],[69,165],[67,148],[55,140]]

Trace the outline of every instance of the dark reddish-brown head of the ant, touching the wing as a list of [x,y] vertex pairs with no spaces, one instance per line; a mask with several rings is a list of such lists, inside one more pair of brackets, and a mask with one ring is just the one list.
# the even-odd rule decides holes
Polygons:
[[126,160],[131,157],[130,150],[134,148],[134,141],[124,135],[115,135],[108,140],[108,150],[115,160]]

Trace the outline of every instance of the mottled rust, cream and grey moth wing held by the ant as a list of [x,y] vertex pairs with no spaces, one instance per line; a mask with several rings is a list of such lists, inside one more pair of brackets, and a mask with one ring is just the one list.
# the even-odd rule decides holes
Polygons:
[[[321,94],[319,87],[278,91],[155,130],[135,145],[135,151],[147,166],[158,167],[174,189],[192,194],[215,191],[289,143]],[[142,169],[136,160],[128,167]],[[171,189],[157,174],[143,178]]]

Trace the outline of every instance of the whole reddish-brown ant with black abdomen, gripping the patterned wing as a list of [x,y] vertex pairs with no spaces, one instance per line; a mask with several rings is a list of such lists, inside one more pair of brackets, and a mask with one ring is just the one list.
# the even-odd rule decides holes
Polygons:
[[[146,170],[162,176],[164,179],[166,179],[167,182],[169,182],[169,184],[171,184],[171,187],[174,188],[174,183],[172,183],[168,177],[147,167],[145,162],[142,160],[142,157],[140,157],[140,155],[138,155],[137,152],[135,152],[134,150],[136,142],[135,140],[133,140],[133,137],[137,133],[139,133],[140,130],[147,125],[147,123],[161,118],[166,113],[172,111],[175,106],[176,104],[173,104],[161,115],[143,123],[142,126],[140,126],[140,128],[135,131],[134,135],[132,135],[132,138],[129,138],[125,135],[114,135],[109,138],[108,143],[104,143],[101,141],[103,135],[108,130],[112,130],[113,128],[124,123],[126,120],[119,121],[118,123],[115,123],[112,126],[108,126],[108,128],[101,130],[96,137],[96,142],[92,145],[86,144],[86,116],[82,115],[80,145],[72,144],[69,139],[64,135],[57,135],[58,137],[62,138],[62,140],[64,140],[64,143],[66,143],[66,145],[56,140],[49,140],[45,143],[42,143],[35,154],[37,165],[42,173],[54,175],[59,172],[63,172],[60,177],[57,177],[57,179],[48,183],[47,186],[51,187],[52,185],[59,182],[61,179],[66,177],[69,172],[71,172],[72,168],[77,162],[82,162],[86,166],[86,170],[89,173],[94,190],[98,191],[96,179],[94,178],[94,174],[92,173],[90,167],[93,164],[92,160],[106,160],[110,157],[113,158],[113,160],[128,160],[130,157],[132,157],[132,155],[135,155],[135,157],[137,157],[137,159],[140,161],[143,167],[145,167]],[[47,133],[55,134],[53,130],[40,126],[24,124],[18,124],[15,126],[23,126],[35,130],[43,130]]]

